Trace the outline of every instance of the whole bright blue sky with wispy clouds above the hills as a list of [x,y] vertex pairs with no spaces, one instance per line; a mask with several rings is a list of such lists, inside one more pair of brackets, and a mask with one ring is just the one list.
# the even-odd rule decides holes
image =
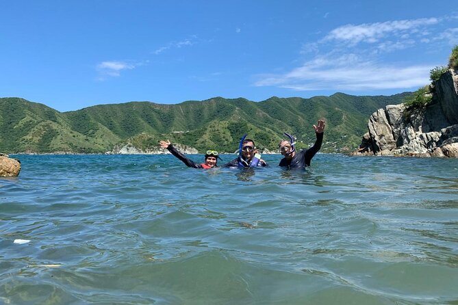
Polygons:
[[456,0],[14,0],[0,10],[0,97],[59,111],[414,91],[458,44]]

